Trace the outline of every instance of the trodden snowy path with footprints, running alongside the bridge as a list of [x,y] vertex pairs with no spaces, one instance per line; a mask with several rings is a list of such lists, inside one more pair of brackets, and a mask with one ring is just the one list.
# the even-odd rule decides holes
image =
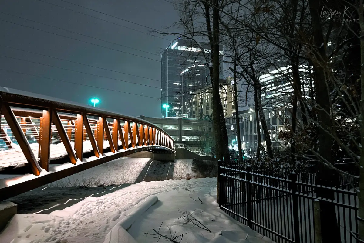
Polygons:
[[[191,187],[209,187],[215,178],[141,182],[48,214],[17,214],[0,235],[2,243],[103,242],[111,228],[150,195]],[[36,196],[36,195],[35,195]]]

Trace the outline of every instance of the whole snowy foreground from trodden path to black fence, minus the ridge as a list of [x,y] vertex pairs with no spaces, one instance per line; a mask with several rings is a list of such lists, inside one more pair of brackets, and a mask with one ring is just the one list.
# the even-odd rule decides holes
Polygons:
[[[45,189],[47,190],[47,188]],[[90,190],[92,190],[90,188]],[[103,242],[106,234],[131,209],[150,195],[159,201],[128,230],[137,242],[156,242],[153,228],[162,235],[183,236],[186,242],[271,242],[247,226],[223,213],[215,201],[216,178],[165,180],[132,184],[104,196],[89,196],[62,210],[55,205],[49,214],[17,214],[0,234],[1,243],[88,243]],[[34,195],[36,197],[36,195]],[[201,201],[202,203],[201,203]],[[185,224],[179,212],[193,212],[195,218],[211,232]],[[221,234],[221,235],[220,235]]]

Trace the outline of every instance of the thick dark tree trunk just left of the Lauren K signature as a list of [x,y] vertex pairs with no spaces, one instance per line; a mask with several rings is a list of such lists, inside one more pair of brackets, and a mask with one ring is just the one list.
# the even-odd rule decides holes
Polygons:
[[[317,109],[318,122],[321,128],[318,132],[319,139],[319,154],[325,160],[332,163],[332,146],[333,140],[329,134],[331,127],[330,118],[330,102],[329,102],[329,90],[327,86],[327,79],[325,75],[324,67],[327,66],[327,55],[325,50],[323,30],[320,18],[320,3],[317,0],[309,0],[309,8],[311,14],[311,24],[313,27],[314,46],[318,52],[314,52],[314,83],[316,87],[316,103],[319,106]],[[318,172],[316,184],[323,186],[335,186],[333,184],[337,181],[337,173],[325,168],[323,163],[318,163]],[[334,193],[325,189],[316,191],[317,197],[323,197],[326,199],[335,199]],[[337,224],[335,205],[328,203],[325,200],[321,201],[321,219],[325,219],[325,223],[321,224],[322,242],[323,243],[339,243],[340,240],[340,228]]]

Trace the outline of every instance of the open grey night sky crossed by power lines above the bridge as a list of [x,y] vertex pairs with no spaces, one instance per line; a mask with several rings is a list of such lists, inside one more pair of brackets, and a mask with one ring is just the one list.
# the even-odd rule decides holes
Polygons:
[[[165,0],[66,1],[159,30],[163,27],[170,26],[174,21],[178,20],[178,15],[177,12],[174,11],[173,5]],[[81,13],[60,8],[46,2],[86,13],[87,15],[92,15],[138,31],[146,33],[150,32],[150,29],[146,27],[106,16],[102,13],[94,12],[83,7],[78,7],[62,0],[2,0],[0,9],[0,86],[50,95],[84,104],[90,104],[90,99],[92,97],[97,97],[101,101],[98,106],[104,109],[126,115],[161,117],[160,101],[158,100],[161,94],[160,53],[169,45],[169,40],[173,40],[173,37],[164,37],[165,39],[156,38],[154,36],[112,23],[107,23]],[[15,16],[28,20],[19,19]],[[92,39],[90,37],[71,33],[65,30],[59,30],[57,28],[29,20],[56,26],[79,34],[92,36],[94,38],[107,40],[108,42],[117,43],[119,45],[138,50],[132,50],[117,44],[103,42],[101,40]],[[35,30],[34,28],[39,30]],[[56,33],[58,35],[40,30]],[[73,39],[60,35],[68,36]],[[84,42],[74,39],[82,40]],[[94,43],[99,46],[85,42]],[[8,47],[12,47],[13,49]],[[16,50],[14,48],[118,72],[49,58]],[[151,52],[151,54],[143,51]],[[134,55],[126,54],[124,52],[129,52]],[[64,69],[44,66],[37,63],[43,63]],[[70,70],[76,70],[78,72]],[[80,72],[86,72],[94,75],[82,74]],[[150,79],[121,74],[119,72]],[[29,76],[26,74],[44,78]],[[132,83],[140,83],[157,88],[135,85],[104,77],[120,79]],[[71,83],[60,82],[54,79]],[[151,79],[155,79],[157,81]],[[104,89],[111,89],[115,91],[72,83],[102,87]],[[125,94],[117,91],[146,95],[155,98]]]

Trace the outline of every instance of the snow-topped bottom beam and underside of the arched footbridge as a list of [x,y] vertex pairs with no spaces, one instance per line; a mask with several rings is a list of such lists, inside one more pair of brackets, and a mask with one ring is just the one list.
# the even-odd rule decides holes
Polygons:
[[[84,154],[85,157],[83,161],[79,161],[75,165],[70,162],[64,163],[64,160],[68,159],[67,157],[53,160],[52,164],[54,164],[55,166],[50,167],[48,172],[42,171],[39,176],[26,174],[0,180],[0,201],[6,200],[13,196],[17,196],[21,193],[33,190],[54,181],[63,179],[67,176],[74,175],[100,164],[115,160],[117,158],[128,156],[138,158],[154,158],[157,156],[157,160],[171,161],[174,157],[173,150],[164,146],[143,146],[138,148],[131,148],[129,150],[123,150],[121,148],[116,153],[105,152],[104,155],[100,156],[99,158],[93,156],[92,153],[90,154],[91,157],[88,158],[87,154]],[[12,170],[5,170],[2,171],[1,174],[15,175],[18,174],[19,170],[21,169],[22,168],[20,167]],[[29,168],[26,169],[29,171]]]

